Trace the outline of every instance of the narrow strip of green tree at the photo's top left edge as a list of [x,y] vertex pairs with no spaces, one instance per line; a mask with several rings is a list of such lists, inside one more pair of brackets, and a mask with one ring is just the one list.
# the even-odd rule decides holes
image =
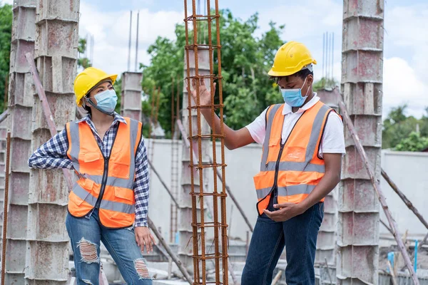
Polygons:
[[12,6],[0,6],[0,113],[5,109],[4,98],[8,88],[5,84],[9,76],[12,18]]

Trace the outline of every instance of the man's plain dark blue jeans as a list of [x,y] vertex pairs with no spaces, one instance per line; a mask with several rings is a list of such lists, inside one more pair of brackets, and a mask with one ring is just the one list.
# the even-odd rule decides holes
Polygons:
[[[272,211],[272,202],[267,208]],[[317,203],[286,222],[259,216],[248,249],[241,285],[270,285],[285,247],[287,285],[315,284],[315,251],[324,203]]]

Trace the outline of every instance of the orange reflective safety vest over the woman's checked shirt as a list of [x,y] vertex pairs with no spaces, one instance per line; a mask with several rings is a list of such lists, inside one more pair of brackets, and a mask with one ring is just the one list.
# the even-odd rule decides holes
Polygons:
[[99,209],[101,224],[108,228],[131,227],[135,219],[135,157],[141,140],[142,123],[125,118],[119,123],[110,157],[103,157],[86,122],[66,124],[67,156],[79,180],[68,195],[68,212],[84,217]]

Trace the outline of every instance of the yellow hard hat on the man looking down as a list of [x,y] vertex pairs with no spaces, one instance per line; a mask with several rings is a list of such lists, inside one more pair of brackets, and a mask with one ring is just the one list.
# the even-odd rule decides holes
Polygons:
[[278,49],[268,74],[270,76],[290,76],[311,63],[317,64],[317,61],[312,58],[307,47],[303,43],[289,41]]

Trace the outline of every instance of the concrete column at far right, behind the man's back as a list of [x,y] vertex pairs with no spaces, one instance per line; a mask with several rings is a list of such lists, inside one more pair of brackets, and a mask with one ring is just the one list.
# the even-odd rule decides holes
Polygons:
[[[382,146],[384,0],[343,2],[342,93],[376,179]],[[338,284],[378,284],[379,201],[345,128],[337,224]]]

